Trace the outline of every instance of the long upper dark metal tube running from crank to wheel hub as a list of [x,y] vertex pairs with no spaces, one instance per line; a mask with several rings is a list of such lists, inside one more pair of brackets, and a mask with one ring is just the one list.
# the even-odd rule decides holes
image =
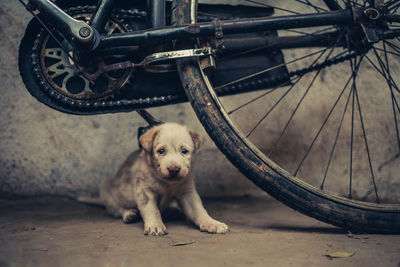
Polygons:
[[[222,27],[223,34],[236,34],[326,25],[348,25],[353,23],[353,12],[350,9],[346,9],[317,14],[220,20],[218,25]],[[168,40],[215,36],[216,31],[219,31],[219,27],[216,28],[215,25],[215,22],[212,21],[183,26],[167,26],[160,29],[115,34],[112,36],[101,35],[99,47],[149,45],[163,43]]]

